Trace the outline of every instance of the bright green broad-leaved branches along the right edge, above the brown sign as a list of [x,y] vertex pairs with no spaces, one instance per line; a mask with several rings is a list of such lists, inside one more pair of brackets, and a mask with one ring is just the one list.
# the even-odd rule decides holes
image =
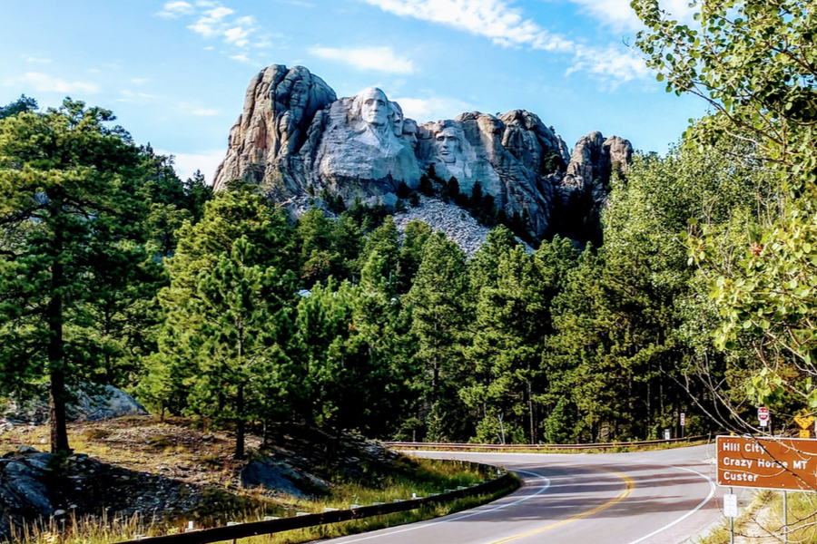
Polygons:
[[[726,371],[732,393],[719,387],[716,394],[729,406],[743,388],[754,403],[780,410],[791,407],[792,397],[817,407],[807,379],[817,347],[812,2],[704,2],[699,29],[670,21],[655,2],[633,5],[648,27],[638,46],[659,81],[666,80],[668,92],[693,93],[713,108],[689,128],[686,144],[704,154],[722,147],[725,136],[737,137],[747,142],[743,162],[765,170],[757,208],[728,222],[690,221],[688,256],[708,280],[720,314],[711,320],[714,344],[741,361]],[[756,357],[744,355],[752,351]]]

